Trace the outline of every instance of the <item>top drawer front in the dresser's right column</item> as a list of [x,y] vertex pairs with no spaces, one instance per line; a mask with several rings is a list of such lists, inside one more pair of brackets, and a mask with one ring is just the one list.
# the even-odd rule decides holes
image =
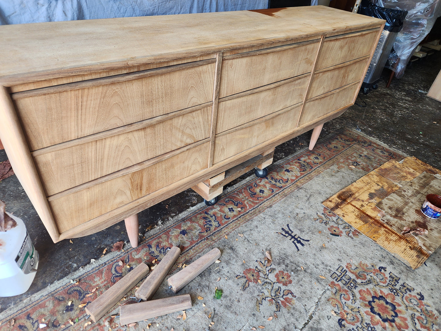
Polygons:
[[315,70],[370,55],[377,45],[379,31],[366,31],[325,38],[318,55]]

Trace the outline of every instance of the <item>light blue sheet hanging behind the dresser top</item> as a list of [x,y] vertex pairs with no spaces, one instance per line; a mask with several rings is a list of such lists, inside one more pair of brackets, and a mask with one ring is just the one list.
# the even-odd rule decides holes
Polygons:
[[0,24],[263,9],[268,0],[7,0]]

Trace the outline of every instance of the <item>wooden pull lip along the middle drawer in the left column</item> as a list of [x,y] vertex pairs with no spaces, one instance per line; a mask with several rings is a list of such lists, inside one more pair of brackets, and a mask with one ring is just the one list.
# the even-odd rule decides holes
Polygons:
[[78,146],[78,145],[81,145],[84,143],[90,143],[92,141],[96,141],[99,139],[112,137],[113,135],[120,135],[122,133],[139,130],[139,129],[146,128],[146,127],[153,125],[153,124],[161,123],[165,120],[171,120],[172,118],[179,117],[179,116],[182,116],[182,115],[185,115],[188,113],[192,113],[196,110],[200,110],[200,109],[203,109],[206,107],[210,107],[211,105],[213,105],[213,101],[209,101],[209,102],[203,103],[201,105],[177,110],[176,112],[160,115],[157,117],[152,117],[147,120],[141,120],[139,122],[127,124],[127,125],[121,126],[119,128],[109,129],[109,130],[106,130],[103,132],[93,133],[92,135],[86,135],[81,138],[65,141],[63,143],[58,143],[56,145],[43,147],[43,148],[32,151],[31,154],[32,154],[32,156],[35,157],[38,155],[54,152],[56,150],[62,150],[64,148],[74,147],[74,146]]

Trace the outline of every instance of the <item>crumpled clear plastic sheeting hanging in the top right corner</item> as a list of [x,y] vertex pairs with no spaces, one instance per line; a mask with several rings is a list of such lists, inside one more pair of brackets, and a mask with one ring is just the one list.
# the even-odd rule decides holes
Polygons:
[[404,20],[403,29],[397,34],[393,45],[400,60],[397,61],[398,64],[390,67],[395,71],[395,77],[401,78],[415,48],[430,32],[437,17],[441,16],[441,0],[372,0],[372,2],[377,6],[409,12]]

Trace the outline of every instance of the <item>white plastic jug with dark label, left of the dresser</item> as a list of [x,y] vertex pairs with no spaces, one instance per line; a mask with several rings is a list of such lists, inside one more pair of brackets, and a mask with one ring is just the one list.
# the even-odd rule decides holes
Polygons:
[[26,232],[25,223],[6,214],[17,222],[17,226],[6,232],[0,231],[0,297],[25,293],[38,267],[38,252]]

